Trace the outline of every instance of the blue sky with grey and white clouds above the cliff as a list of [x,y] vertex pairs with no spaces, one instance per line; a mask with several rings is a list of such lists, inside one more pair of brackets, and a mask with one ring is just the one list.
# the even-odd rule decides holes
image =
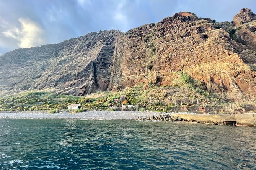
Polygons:
[[0,0],[0,55],[60,43],[99,30],[156,23],[180,11],[217,22],[232,21],[255,0]]

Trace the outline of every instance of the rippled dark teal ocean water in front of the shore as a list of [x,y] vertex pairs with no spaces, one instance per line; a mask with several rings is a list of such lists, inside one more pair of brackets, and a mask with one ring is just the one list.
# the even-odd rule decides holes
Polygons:
[[0,170],[256,169],[256,128],[0,119]]

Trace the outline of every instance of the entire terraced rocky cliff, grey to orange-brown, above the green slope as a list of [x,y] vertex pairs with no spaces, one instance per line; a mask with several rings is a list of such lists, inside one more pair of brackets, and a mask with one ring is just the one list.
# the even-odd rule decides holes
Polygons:
[[[50,88],[85,95],[140,83],[144,88],[149,83],[171,85],[176,72],[184,70],[205,88],[256,94],[254,20],[248,9],[232,23],[215,24],[180,12],[126,33],[93,32],[59,44],[13,50],[0,57],[0,90]],[[227,32],[235,27],[237,41]]]

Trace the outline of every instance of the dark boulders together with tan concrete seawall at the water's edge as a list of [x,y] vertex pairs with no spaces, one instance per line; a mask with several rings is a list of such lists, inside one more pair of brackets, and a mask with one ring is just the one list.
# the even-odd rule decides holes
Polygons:
[[213,125],[256,126],[256,114],[156,114],[149,117],[137,117],[137,120],[178,121],[190,123],[205,123]]

